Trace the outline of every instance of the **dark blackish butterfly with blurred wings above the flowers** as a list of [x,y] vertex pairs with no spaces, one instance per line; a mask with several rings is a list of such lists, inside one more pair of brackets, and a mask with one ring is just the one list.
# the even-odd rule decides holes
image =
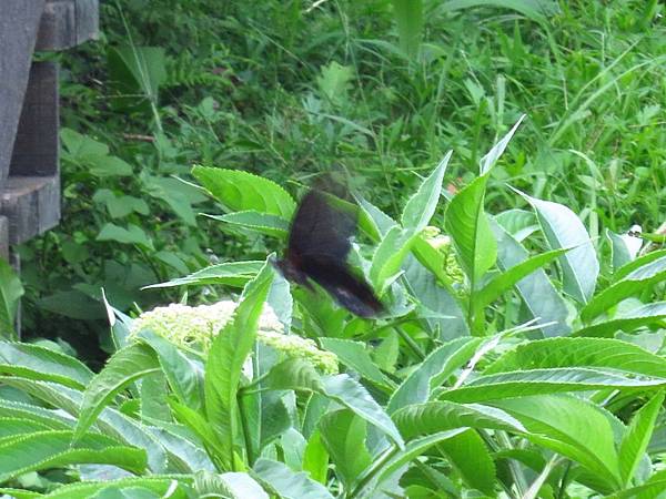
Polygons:
[[373,317],[384,306],[370,285],[346,264],[356,213],[332,204],[332,200],[317,190],[305,194],[291,223],[284,258],[276,266],[293,283],[314,291],[312,279],[347,310]]

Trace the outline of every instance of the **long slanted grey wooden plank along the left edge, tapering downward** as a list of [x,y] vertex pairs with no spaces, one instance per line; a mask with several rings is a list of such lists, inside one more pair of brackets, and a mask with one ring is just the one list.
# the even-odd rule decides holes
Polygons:
[[1,0],[0,185],[9,173],[14,135],[44,0]]

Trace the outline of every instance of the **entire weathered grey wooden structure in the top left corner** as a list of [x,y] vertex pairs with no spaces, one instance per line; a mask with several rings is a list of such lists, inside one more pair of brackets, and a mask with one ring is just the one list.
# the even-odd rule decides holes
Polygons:
[[0,254],[60,220],[58,65],[98,33],[98,0],[0,0]]

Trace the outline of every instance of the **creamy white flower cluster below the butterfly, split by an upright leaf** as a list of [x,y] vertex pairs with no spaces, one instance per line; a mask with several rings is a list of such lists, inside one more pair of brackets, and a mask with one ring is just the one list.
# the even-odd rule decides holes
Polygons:
[[[196,307],[181,304],[155,307],[150,312],[142,313],[132,323],[131,333],[134,335],[142,329],[150,329],[174,345],[205,354],[213,337],[222,332],[224,325],[232,319],[236,305],[232,301],[222,301],[213,305]],[[323,373],[337,373],[335,354],[317,348],[312,339],[285,335],[282,323],[269,305],[264,305],[259,318],[256,339],[286,357],[309,360]]]

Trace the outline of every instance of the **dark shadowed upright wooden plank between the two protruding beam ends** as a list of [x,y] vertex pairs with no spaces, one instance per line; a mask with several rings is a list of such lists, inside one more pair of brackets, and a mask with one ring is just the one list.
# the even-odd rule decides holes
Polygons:
[[34,62],[14,141],[9,175],[58,173],[58,65]]

